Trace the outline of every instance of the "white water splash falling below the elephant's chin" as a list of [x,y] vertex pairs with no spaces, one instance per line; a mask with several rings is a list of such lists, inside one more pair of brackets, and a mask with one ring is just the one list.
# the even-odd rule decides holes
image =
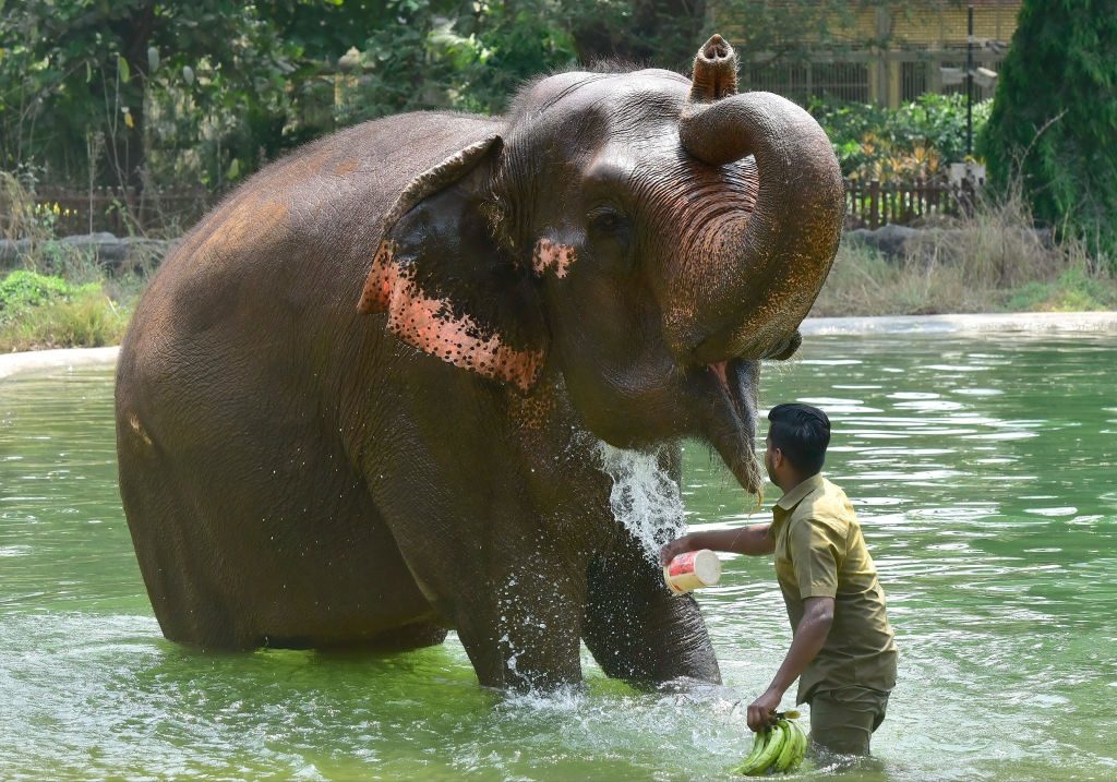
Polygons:
[[679,485],[660,465],[667,447],[639,451],[598,444],[601,469],[613,479],[609,493],[613,518],[632,533],[655,565],[660,547],[686,531]]

